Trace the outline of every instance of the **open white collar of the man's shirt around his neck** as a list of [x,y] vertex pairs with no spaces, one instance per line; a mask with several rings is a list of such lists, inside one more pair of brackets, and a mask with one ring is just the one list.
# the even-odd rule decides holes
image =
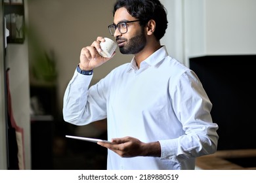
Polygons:
[[[167,56],[168,56],[168,52],[166,50],[166,47],[165,46],[161,46],[160,49],[156,50],[156,52],[154,52],[151,56],[149,56],[144,61],[142,61],[140,63],[140,65],[141,64],[142,65],[147,64],[147,65],[150,65],[150,66],[155,66],[158,63],[160,63],[160,61],[163,60]],[[136,63],[134,57],[131,60],[131,63],[130,63],[128,71],[131,71],[131,70],[135,70],[135,71],[138,70],[137,63]]]

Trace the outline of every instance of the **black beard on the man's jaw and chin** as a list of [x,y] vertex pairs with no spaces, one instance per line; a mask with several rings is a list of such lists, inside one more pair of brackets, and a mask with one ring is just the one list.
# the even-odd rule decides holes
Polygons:
[[129,41],[127,41],[127,45],[123,47],[119,47],[121,54],[137,54],[146,45],[146,37],[143,33],[132,37]]

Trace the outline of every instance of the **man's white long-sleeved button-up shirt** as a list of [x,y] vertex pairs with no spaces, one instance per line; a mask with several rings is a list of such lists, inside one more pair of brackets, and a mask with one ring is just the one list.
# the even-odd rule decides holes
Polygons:
[[107,118],[108,140],[159,141],[161,157],[121,158],[108,150],[107,169],[194,169],[195,158],[217,149],[212,104],[193,71],[165,46],[125,63],[89,88],[93,75],[75,71],[64,94],[64,120],[86,125]]

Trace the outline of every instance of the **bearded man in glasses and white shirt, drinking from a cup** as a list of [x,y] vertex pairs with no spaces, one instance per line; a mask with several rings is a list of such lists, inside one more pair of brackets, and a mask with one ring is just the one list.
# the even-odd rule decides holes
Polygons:
[[108,148],[107,169],[194,169],[196,157],[216,151],[218,125],[198,77],[160,44],[165,8],[158,0],[116,1],[109,29],[120,52],[134,58],[89,88],[93,69],[111,58],[98,54],[102,37],[83,48],[64,94],[64,120],[107,118],[112,144],[98,142]]

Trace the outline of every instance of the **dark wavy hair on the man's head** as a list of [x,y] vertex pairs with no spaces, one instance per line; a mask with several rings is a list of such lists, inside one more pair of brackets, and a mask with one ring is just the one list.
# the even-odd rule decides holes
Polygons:
[[158,41],[165,35],[167,29],[167,10],[159,0],[117,0],[114,4],[113,15],[116,10],[125,7],[131,16],[140,20],[140,25],[145,26],[149,20],[156,22],[154,35]]

